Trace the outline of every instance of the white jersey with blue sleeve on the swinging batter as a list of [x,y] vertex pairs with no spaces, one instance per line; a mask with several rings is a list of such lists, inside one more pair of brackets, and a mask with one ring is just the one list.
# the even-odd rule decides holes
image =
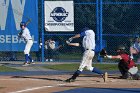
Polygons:
[[80,33],[80,37],[83,37],[83,47],[87,49],[95,49],[95,33],[93,30],[86,30]]

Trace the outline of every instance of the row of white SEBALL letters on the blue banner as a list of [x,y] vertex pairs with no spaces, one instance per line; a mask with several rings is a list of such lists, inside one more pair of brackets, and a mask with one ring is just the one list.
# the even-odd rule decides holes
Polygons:
[[[32,36],[34,40],[34,35]],[[0,43],[25,43],[24,39],[19,39],[17,35],[0,35]],[[37,41],[34,41],[37,43]]]

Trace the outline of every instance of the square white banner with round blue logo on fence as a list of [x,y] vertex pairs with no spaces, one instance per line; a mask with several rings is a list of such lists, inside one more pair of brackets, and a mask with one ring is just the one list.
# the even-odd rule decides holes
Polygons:
[[46,31],[74,31],[73,1],[45,1],[44,7]]

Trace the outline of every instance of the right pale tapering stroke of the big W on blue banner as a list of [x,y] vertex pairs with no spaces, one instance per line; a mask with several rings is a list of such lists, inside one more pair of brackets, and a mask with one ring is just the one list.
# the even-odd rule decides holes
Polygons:
[[22,21],[24,6],[25,6],[25,0],[11,0],[12,9],[14,13],[14,19],[16,23],[17,30],[20,30],[19,22]]

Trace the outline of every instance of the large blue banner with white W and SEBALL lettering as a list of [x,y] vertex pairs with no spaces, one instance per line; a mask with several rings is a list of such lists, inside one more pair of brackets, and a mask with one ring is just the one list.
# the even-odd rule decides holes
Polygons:
[[23,51],[25,41],[18,38],[20,22],[30,22],[34,44],[31,51],[38,50],[38,0],[0,0],[0,51]]

